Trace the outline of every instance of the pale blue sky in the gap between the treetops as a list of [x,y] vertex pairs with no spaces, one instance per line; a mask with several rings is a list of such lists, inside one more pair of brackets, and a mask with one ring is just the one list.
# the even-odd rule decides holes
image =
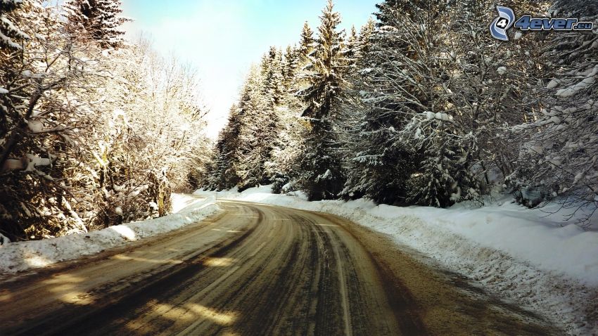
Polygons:
[[[379,0],[336,0],[341,28],[358,29]],[[326,0],[123,0],[129,37],[151,35],[155,49],[174,52],[198,70],[203,100],[210,108],[208,134],[215,136],[238,97],[251,63],[269,46],[299,39],[307,20],[315,31]]]

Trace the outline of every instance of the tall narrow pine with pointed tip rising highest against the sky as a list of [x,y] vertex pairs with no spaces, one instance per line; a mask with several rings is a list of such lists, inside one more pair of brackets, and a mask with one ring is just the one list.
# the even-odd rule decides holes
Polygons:
[[339,157],[339,143],[333,129],[338,95],[345,84],[343,57],[344,32],[336,29],[341,16],[328,1],[320,17],[318,38],[309,56],[310,63],[300,75],[307,87],[300,91],[308,122],[303,152],[298,157],[298,186],[310,200],[336,198],[342,190],[344,176]]

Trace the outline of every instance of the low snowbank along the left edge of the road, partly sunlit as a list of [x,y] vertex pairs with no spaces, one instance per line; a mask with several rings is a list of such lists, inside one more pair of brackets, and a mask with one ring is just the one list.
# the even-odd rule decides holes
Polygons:
[[64,237],[8,243],[0,246],[0,274],[16,273],[76,259],[140,238],[176,230],[220,211],[214,196],[172,195],[173,214],[146,221],[110,226],[99,231]]

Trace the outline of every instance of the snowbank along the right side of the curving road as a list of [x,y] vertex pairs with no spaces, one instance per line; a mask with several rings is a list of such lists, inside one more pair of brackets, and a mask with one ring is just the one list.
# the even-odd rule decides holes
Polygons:
[[[390,235],[481,283],[489,292],[547,316],[571,335],[598,335],[598,232],[508,198],[470,209],[391,207],[368,200],[308,202],[301,193],[272,195],[269,186],[216,196],[327,212]],[[596,215],[596,214],[594,214]],[[596,221],[596,216],[592,220]]]

